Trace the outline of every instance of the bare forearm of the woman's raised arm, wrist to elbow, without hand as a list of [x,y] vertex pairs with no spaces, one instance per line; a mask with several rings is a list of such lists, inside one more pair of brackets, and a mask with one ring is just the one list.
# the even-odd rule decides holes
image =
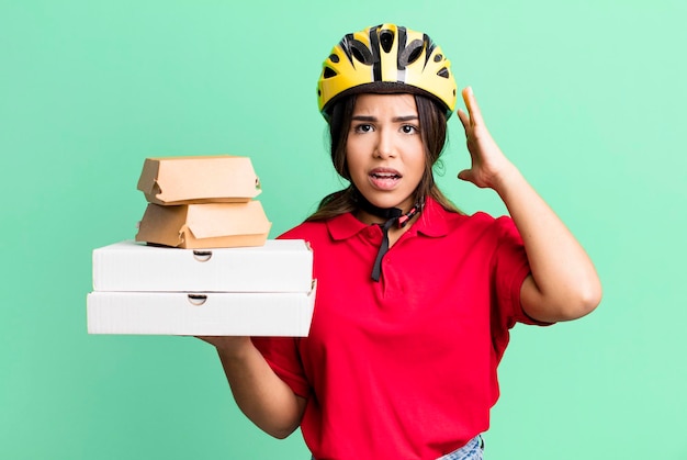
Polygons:
[[521,290],[525,311],[549,322],[592,312],[600,302],[601,285],[582,245],[515,166],[495,190],[520,232],[532,271]]

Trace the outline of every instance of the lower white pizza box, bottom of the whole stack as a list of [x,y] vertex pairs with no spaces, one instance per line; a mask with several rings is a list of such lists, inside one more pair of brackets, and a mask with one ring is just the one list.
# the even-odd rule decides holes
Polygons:
[[307,336],[309,292],[91,292],[89,334]]

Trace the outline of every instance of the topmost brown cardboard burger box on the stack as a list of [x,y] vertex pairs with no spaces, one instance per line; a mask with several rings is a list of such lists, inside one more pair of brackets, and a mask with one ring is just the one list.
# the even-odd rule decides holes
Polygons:
[[146,158],[137,188],[164,205],[241,202],[261,192],[250,158],[232,155]]

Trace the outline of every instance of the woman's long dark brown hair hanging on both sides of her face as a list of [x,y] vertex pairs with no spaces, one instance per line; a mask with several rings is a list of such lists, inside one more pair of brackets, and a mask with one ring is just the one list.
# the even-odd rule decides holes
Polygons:
[[[447,141],[446,113],[425,96],[415,94],[414,98],[419,117],[420,136],[425,147],[425,172],[420,183],[415,189],[415,202],[431,197],[447,211],[460,213],[461,211],[437,187],[432,170]],[[350,173],[346,161],[346,144],[354,106],[356,94],[352,94],[337,102],[331,109],[329,119],[331,162],[339,176],[348,181],[350,181]],[[317,211],[306,221],[325,221],[356,211],[358,209],[358,195],[359,192],[351,182],[346,189],[325,197],[319,202]]]

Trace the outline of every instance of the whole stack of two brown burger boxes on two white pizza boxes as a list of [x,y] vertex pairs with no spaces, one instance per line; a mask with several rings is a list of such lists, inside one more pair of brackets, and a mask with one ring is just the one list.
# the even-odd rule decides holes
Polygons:
[[93,250],[90,334],[306,336],[304,240],[268,239],[250,158],[148,158],[135,240]]

